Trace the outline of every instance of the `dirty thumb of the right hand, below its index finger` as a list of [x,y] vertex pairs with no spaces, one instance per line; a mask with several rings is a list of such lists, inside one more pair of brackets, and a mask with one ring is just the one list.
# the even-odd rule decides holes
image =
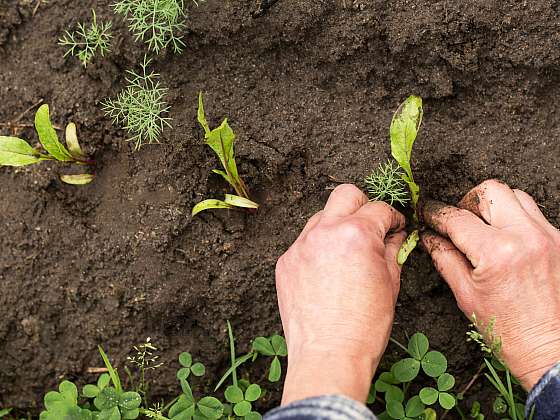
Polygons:
[[422,233],[420,240],[432,257],[436,270],[453,291],[459,307],[470,318],[473,267],[449,240],[430,231]]

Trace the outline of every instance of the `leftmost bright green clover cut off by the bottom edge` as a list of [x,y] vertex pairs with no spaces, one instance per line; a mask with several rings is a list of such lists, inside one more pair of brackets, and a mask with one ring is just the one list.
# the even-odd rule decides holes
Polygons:
[[46,410],[40,420],[91,420],[91,411],[78,406],[78,389],[70,381],[62,381],[58,391],[47,392],[44,398]]

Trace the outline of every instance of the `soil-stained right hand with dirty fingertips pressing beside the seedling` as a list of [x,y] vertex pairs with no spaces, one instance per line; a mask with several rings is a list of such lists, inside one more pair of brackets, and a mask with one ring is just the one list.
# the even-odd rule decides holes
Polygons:
[[461,310],[492,319],[500,357],[531,389],[560,361],[560,231],[527,193],[495,181],[458,207],[428,202],[422,243]]

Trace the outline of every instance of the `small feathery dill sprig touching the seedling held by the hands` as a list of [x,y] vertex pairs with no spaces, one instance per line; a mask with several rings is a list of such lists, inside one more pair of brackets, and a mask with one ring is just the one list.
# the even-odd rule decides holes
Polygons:
[[402,171],[392,161],[379,165],[364,183],[372,200],[385,201],[393,205],[405,205],[409,200],[406,183],[402,179]]

